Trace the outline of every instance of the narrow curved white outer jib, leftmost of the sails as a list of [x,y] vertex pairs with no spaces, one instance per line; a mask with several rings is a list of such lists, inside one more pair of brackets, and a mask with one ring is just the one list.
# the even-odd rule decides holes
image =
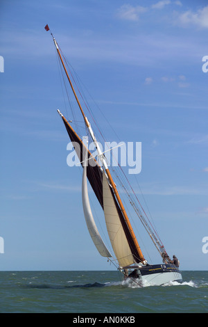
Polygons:
[[82,196],[83,196],[83,210],[85,215],[85,221],[87,223],[87,228],[89,230],[89,234],[92,237],[92,241],[94,241],[94,245],[96,246],[98,252],[103,257],[112,257],[109,250],[107,250],[101,235],[98,232],[96,227],[96,223],[92,216],[92,210],[89,204],[89,196],[87,189],[87,166],[83,167],[83,186],[82,186]]

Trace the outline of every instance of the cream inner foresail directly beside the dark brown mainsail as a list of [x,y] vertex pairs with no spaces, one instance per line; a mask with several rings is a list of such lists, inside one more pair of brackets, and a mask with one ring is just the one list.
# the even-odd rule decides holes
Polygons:
[[110,191],[110,186],[103,171],[103,206],[105,223],[112,248],[120,266],[128,266],[135,262],[125,232],[121,225],[119,214]]

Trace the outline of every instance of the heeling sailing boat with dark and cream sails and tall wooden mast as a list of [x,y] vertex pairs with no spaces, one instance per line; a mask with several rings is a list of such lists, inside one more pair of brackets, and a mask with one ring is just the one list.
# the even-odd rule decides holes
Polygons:
[[[46,31],[50,31],[48,25],[45,26],[45,29]],[[163,285],[164,283],[171,281],[181,282],[182,275],[180,270],[172,263],[172,260],[166,253],[164,245],[157,236],[155,229],[148,223],[147,217],[145,217],[144,214],[141,214],[141,210],[137,207],[137,204],[132,201],[132,207],[135,209],[135,212],[137,213],[137,216],[139,216],[142,225],[144,225],[150,239],[153,241],[153,244],[162,257],[162,264],[148,264],[147,260],[144,258],[128,214],[126,213],[123,202],[121,201],[119,191],[112,174],[110,173],[110,167],[105,158],[105,154],[101,150],[100,143],[98,143],[96,140],[92,125],[89,123],[76,91],[73,88],[73,84],[62,58],[60,47],[58,46],[58,43],[56,42],[52,33],[51,36],[55,44],[55,49],[57,51],[60,64],[62,65],[62,68],[67,76],[71,90],[73,91],[73,95],[80,109],[80,113],[83,115],[85,127],[87,127],[87,131],[89,131],[89,135],[91,136],[97,150],[96,159],[96,157],[89,152],[88,147],[83,143],[80,136],[78,136],[76,131],[71,127],[69,121],[58,110],[58,113],[64,122],[64,126],[67,129],[69,138],[73,143],[73,147],[76,150],[78,159],[83,166],[83,212],[87,223],[87,228],[94,245],[103,257],[107,257],[108,260],[118,265],[117,268],[119,271],[121,271],[121,273],[123,273],[125,279],[132,279],[135,282],[139,282],[140,285],[144,285],[144,283],[147,282],[150,285]],[[92,186],[92,190],[94,191],[94,194],[98,199],[101,208],[103,209],[107,233],[114,255],[112,255],[110,250],[105,245],[94,221],[89,203],[87,180]]]

